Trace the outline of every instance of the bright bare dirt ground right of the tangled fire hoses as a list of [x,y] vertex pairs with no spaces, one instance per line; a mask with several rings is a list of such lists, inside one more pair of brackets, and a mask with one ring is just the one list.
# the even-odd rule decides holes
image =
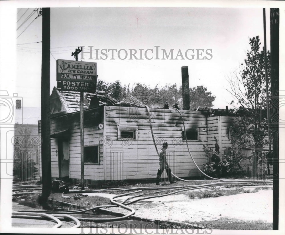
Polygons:
[[[251,191],[253,189],[249,188]],[[135,202],[130,206],[136,210],[136,216],[153,220],[175,220],[196,223],[227,217],[233,220],[264,220],[272,222],[272,189],[202,199],[191,199],[185,194],[182,192],[181,194],[146,199]],[[88,195],[107,198],[114,196],[105,193],[88,193]],[[118,198],[118,202],[127,197]],[[127,212],[125,209],[118,207],[109,209],[122,213]]]

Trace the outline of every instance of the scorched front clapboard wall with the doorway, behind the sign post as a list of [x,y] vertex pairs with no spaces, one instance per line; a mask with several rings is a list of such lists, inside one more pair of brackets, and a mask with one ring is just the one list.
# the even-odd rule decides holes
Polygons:
[[[85,164],[84,172],[86,180],[104,180],[103,165],[103,129],[98,128],[98,124],[103,123],[103,107],[84,110],[84,146],[99,145],[99,163]],[[51,134],[59,131],[70,130],[69,135],[69,173],[70,178],[80,179],[80,112],[53,117],[50,120]],[[41,135],[39,125],[39,135]],[[58,177],[58,156],[56,150],[58,138],[51,138],[51,165],[52,177]],[[41,158],[41,151],[39,152]],[[41,170],[40,170],[41,176]]]

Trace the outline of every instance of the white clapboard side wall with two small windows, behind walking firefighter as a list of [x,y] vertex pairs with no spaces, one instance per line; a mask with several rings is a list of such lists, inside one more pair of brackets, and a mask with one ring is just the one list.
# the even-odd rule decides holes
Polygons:
[[[154,138],[160,151],[167,141],[167,160],[172,172],[180,177],[198,176],[199,171],[189,156],[186,141],[182,140],[183,124],[173,109],[150,109]],[[205,163],[202,144],[207,144],[206,116],[201,111],[181,110],[186,130],[198,128],[200,140],[188,144],[192,156],[201,168]],[[155,178],[159,168],[146,108],[105,106],[105,180]],[[118,128],[137,128],[137,139],[118,140]],[[164,175],[165,172],[164,172]]]

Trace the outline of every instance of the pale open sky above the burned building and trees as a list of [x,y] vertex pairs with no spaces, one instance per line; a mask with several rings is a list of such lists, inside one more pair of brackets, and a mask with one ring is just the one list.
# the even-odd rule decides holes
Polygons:
[[[34,12],[21,25],[34,9],[15,9],[17,28],[20,26],[16,31],[16,92],[23,97],[27,107],[40,107],[42,44],[35,42],[42,40],[42,17],[34,20],[38,14]],[[93,46],[92,58],[96,56],[95,49],[99,52],[101,49],[125,49],[128,52],[124,60],[119,59],[116,52],[112,60],[111,51],[106,60],[105,57],[100,59],[100,53],[98,60],[89,60],[86,54],[84,61],[97,62],[99,80],[119,80],[122,85],[130,84],[131,87],[135,83],[150,87],[176,83],[179,87],[181,67],[186,65],[190,87],[204,85],[216,96],[214,108],[225,108],[232,100],[226,91],[225,77],[238,69],[246,58],[249,37],[259,35],[262,46],[264,41],[262,8],[259,7],[55,7],[50,12],[50,92],[57,84],[56,59],[73,60],[71,53],[76,47],[85,46],[84,51],[89,51],[88,46]],[[267,47],[270,49],[269,9],[267,23]],[[130,60],[130,49],[137,50],[139,57],[139,49],[155,51],[155,46],[159,46],[160,58],[162,49],[167,53],[173,49],[174,59],[179,50],[185,55],[187,49],[194,49],[196,55],[192,60],[185,57],[183,60],[181,56],[177,60],[148,60],[145,57]],[[198,60],[197,49],[204,51],[200,58],[210,49],[207,52],[212,58],[207,56],[211,59]],[[151,57],[150,51],[147,55]],[[124,58],[124,50],[119,56]]]

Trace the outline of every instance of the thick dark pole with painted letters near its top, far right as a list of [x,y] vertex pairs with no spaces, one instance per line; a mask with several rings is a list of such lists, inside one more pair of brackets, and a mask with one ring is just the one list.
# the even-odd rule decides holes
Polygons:
[[[273,230],[279,220],[279,8],[270,8],[271,130],[273,137]],[[280,120],[282,122],[282,120]],[[284,123],[284,122],[283,122]]]

